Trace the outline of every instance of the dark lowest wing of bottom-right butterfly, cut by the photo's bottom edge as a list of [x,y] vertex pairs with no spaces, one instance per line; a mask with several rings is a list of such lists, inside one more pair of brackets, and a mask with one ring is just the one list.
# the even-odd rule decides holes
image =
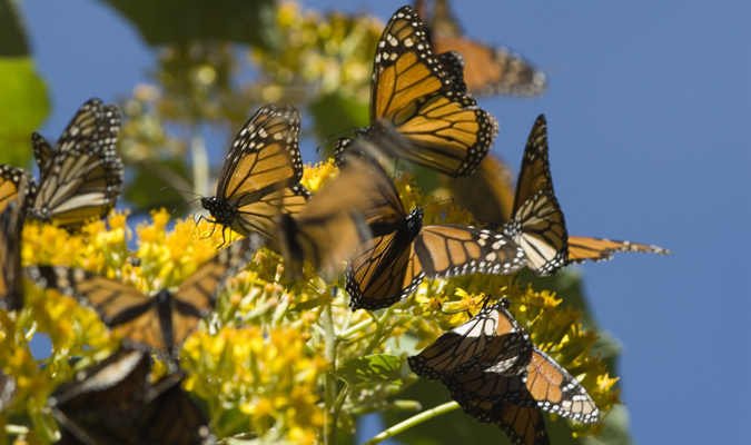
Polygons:
[[540,409],[510,402],[457,400],[465,413],[480,422],[492,423],[506,433],[513,445],[550,445],[547,428]]

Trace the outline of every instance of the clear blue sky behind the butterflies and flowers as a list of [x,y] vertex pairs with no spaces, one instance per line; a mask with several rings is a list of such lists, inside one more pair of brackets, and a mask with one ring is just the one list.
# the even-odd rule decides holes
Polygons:
[[[384,21],[402,4],[306,3]],[[113,101],[147,80],[155,51],[101,3],[22,7],[53,105],[45,135],[59,135],[89,97]],[[583,267],[594,315],[624,345],[635,441],[748,443],[751,3],[485,0],[454,9],[468,36],[515,49],[550,78],[540,99],[481,100],[501,126],[493,151],[517,168],[544,112],[570,234],[674,251]],[[224,152],[226,144],[209,142]]]

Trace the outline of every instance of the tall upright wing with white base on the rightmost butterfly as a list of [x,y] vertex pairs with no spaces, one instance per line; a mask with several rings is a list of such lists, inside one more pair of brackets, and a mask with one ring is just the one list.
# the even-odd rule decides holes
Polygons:
[[520,245],[527,266],[537,275],[552,275],[566,265],[569,234],[553,191],[547,158],[547,125],[541,115],[526,142],[516,181],[512,220],[504,234]]

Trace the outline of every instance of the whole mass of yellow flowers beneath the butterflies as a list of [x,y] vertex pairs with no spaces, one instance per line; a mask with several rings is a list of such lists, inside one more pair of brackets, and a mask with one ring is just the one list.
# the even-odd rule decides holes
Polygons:
[[[303,184],[316,191],[336,174],[332,160],[306,167]],[[452,201],[436,204],[434,197],[421,194],[409,174],[398,175],[395,185],[406,211],[425,208],[425,224],[472,221]],[[82,267],[154,294],[179,286],[217,248],[237,238],[231,230],[223,234],[221,227],[205,220],[171,225],[164,209],[154,211],[151,220],[138,225],[135,234],[137,249],[131,253],[127,214],[88,224],[79,235],[29,222],[22,259],[24,265]],[[281,258],[266,249],[226,281],[215,314],[187,338],[180,360],[188,374],[184,386],[207,402],[219,438],[253,432],[266,442],[314,444],[326,429],[325,413],[335,414],[328,425],[347,427],[353,425],[350,413],[386,409],[403,383],[345,385],[334,404],[324,395],[332,385],[336,388],[336,378],[325,376],[370,354],[413,353],[404,349],[414,344],[403,342],[407,336],[418,339],[419,350],[480,312],[488,299],[500,297],[511,300],[510,310],[533,343],[579,378],[603,413],[620,403],[614,389],[617,379],[592,355],[596,335],[582,329],[581,315],[562,307],[547,291],[521,288],[515,276],[475,274],[425,280],[416,296],[377,315],[349,310],[340,285],[324,283],[313,273],[305,280],[290,281]],[[28,414],[38,442],[50,443],[55,424],[45,414],[47,397],[76,370],[115,350],[118,338],[91,309],[72,298],[31,285],[26,290],[21,312],[0,312],[0,368],[18,379],[12,409]],[[29,347],[39,334],[52,343],[51,356],[41,360]],[[327,342],[333,343],[327,346]],[[73,356],[82,359],[70,365]],[[166,367],[157,364],[155,374],[164,372]],[[402,376],[402,382],[409,378],[414,376]],[[574,426],[583,435],[597,434],[600,428]]]

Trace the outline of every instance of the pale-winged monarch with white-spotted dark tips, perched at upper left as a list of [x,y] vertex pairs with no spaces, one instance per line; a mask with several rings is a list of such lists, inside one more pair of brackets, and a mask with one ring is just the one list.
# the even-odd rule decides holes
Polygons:
[[119,129],[117,106],[91,99],[68,123],[57,149],[32,134],[39,186],[30,196],[28,217],[56,221],[71,230],[106,217],[122,186],[123,166],[116,151]]

